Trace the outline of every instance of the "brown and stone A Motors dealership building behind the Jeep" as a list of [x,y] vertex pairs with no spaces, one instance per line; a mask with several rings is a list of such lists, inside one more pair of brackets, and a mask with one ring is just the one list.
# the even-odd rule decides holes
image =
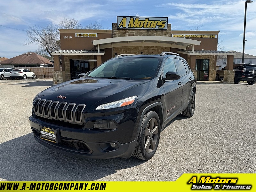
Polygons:
[[219,31],[172,30],[165,17],[117,16],[112,30],[60,29],[61,50],[52,52],[53,82],[74,79],[119,54],[161,52],[180,54],[198,81],[215,80],[217,55],[224,55],[227,58],[224,82],[234,82],[236,52],[217,51],[218,34]]

